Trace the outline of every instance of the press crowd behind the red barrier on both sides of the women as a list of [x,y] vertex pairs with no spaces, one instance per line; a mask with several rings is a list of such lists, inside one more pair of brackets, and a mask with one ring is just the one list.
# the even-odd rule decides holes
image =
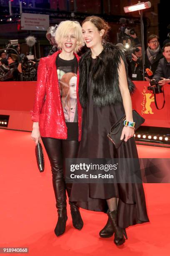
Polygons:
[[[138,37],[131,35],[133,53],[131,59],[127,59],[128,73],[133,81],[143,80],[142,45]],[[145,72],[145,81],[155,79],[159,84],[170,83],[170,39],[163,42],[161,49],[159,37],[150,35],[147,40],[148,47],[145,50],[145,69],[150,69],[150,74]],[[57,51],[57,47],[55,47]],[[55,52],[54,51],[54,52]],[[52,52],[52,54],[54,53]],[[51,55],[51,53],[49,53]],[[36,81],[38,62],[29,61],[24,54],[7,54],[0,52],[0,81]]]

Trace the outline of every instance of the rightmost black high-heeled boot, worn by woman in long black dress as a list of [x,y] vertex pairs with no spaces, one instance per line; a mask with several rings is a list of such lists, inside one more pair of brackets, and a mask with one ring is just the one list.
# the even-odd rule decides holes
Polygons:
[[[114,243],[117,246],[120,246],[123,243],[125,243],[125,238],[128,239],[126,230],[117,226],[117,210],[108,212],[108,216],[109,216],[110,220],[112,221],[112,227],[114,228],[114,232],[115,232]],[[125,238],[124,238],[124,236],[125,236]]]

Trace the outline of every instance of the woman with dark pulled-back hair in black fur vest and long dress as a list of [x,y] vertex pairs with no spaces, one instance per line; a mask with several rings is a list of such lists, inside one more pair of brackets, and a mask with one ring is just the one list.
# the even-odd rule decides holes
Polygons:
[[[135,89],[128,78],[122,51],[104,43],[108,30],[108,24],[100,17],[90,16],[82,23],[83,38],[90,50],[79,62],[79,99],[83,113],[78,157],[138,159],[133,128],[124,126],[120,138],[124,141],[118,149],[107,138],[111,126],[123,114],[134,125],[130,93]],[[127,238],[125,228],[149,221],[142,184],[73,183],[70,199],[82,208],[107,212],[107,224],[100,236],[107,238],[115,233],[117,246]]]

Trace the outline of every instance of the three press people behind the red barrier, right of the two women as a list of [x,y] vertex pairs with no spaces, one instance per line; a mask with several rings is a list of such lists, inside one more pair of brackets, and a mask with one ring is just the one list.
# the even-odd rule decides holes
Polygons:
[[[145,50],[145,69],[150,69],[150,74],[145,75],[145,80],[157,79],[159,84],[164,85],[170,82],[170,39],[163,42],[163,49],[160,47],[157,35],[150,35],[147,40],[148,47]],[[132,53],[132,60],[128,61],[129,75],[133,81],[143,80],[142,45],[135,45]]]

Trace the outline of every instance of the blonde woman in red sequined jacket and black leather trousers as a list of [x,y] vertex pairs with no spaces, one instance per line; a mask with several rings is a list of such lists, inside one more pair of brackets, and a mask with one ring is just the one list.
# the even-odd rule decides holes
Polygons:
[[[40,137],[47,151],[52,168],[52,184],[55,193],[58,212],[56,236],[65,232],[67,221],[66,190],[70,197],[71,184],[65,183],[65,158],[75,158],[81,136],[81,106],[78,100],[78,61],[76,54],[83,44],[82,28],[77,21],[62,21],[57,27],[55,41],[59,51],[51,56],[40,59],[37,73],[37,90],[32,111],[32,139],[35,144]],[[68,118],[62,107],[65,101],[60,80],[67,73],[73,73],[76,78],[75,116]],[[71,102],[69,102],[70,104]],[[72,223],[80,230],[83,221],[79,207],[70,202]]]

